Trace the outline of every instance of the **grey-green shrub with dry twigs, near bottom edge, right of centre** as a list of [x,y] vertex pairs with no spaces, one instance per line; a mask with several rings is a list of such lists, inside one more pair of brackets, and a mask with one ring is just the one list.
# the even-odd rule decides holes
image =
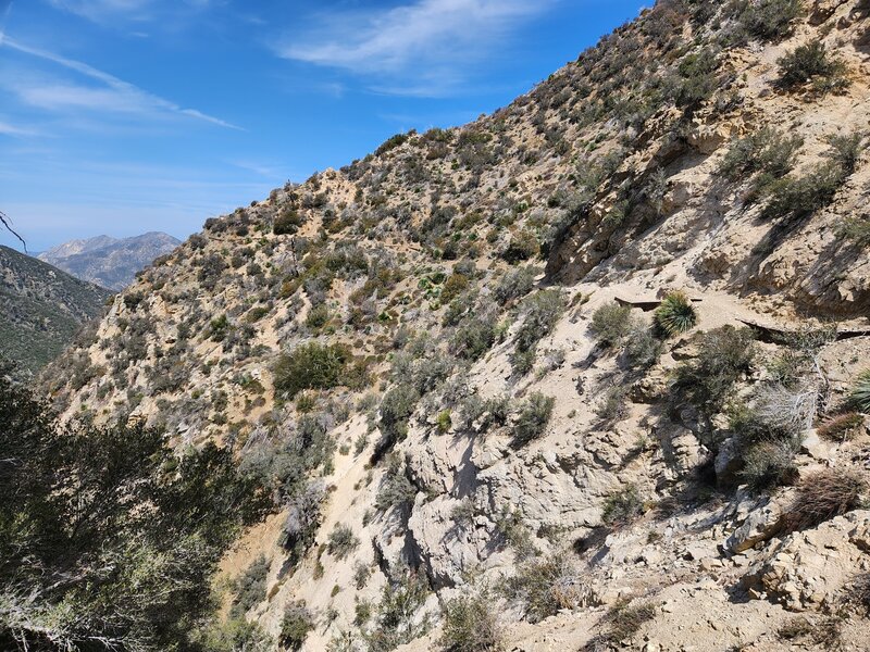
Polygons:
[[525,606],[525,619],[538,623],[563,609],[576,609],[588,597],[576,568],[564,553],[530,559],[508,579],[506,592]]

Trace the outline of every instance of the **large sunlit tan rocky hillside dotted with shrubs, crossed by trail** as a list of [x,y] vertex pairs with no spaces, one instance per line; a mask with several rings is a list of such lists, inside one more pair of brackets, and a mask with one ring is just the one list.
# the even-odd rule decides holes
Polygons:
[[866,0],[658,2],[210,220],[44,385],[269,488],[246,649],[859,649],[869,82]]

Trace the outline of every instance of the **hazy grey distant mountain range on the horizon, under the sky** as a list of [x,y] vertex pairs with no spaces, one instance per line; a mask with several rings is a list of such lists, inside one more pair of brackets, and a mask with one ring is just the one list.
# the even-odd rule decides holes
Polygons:
[[82,280],[111,290],[123,290],[133,283],[137,272],[178,244],[181,240],[161,233],[123,239],[98,236],[64,242],[37,258]]

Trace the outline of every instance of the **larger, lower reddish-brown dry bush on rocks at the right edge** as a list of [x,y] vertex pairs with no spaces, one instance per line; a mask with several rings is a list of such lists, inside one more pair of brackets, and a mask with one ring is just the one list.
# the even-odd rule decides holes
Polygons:
[[807,476],[786,514],[790,529],[816,527],[861,505],[867,479],[858,472],[825,468]]

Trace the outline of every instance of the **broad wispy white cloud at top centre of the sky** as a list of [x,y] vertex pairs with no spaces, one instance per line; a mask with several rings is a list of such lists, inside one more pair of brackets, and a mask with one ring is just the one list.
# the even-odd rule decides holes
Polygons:
[[275,46],[286,59],[376,79],[390,95],[447,95],[468,79],[474,61],[554,0],[417,0],[401,7],[315,18],[304,35]]

